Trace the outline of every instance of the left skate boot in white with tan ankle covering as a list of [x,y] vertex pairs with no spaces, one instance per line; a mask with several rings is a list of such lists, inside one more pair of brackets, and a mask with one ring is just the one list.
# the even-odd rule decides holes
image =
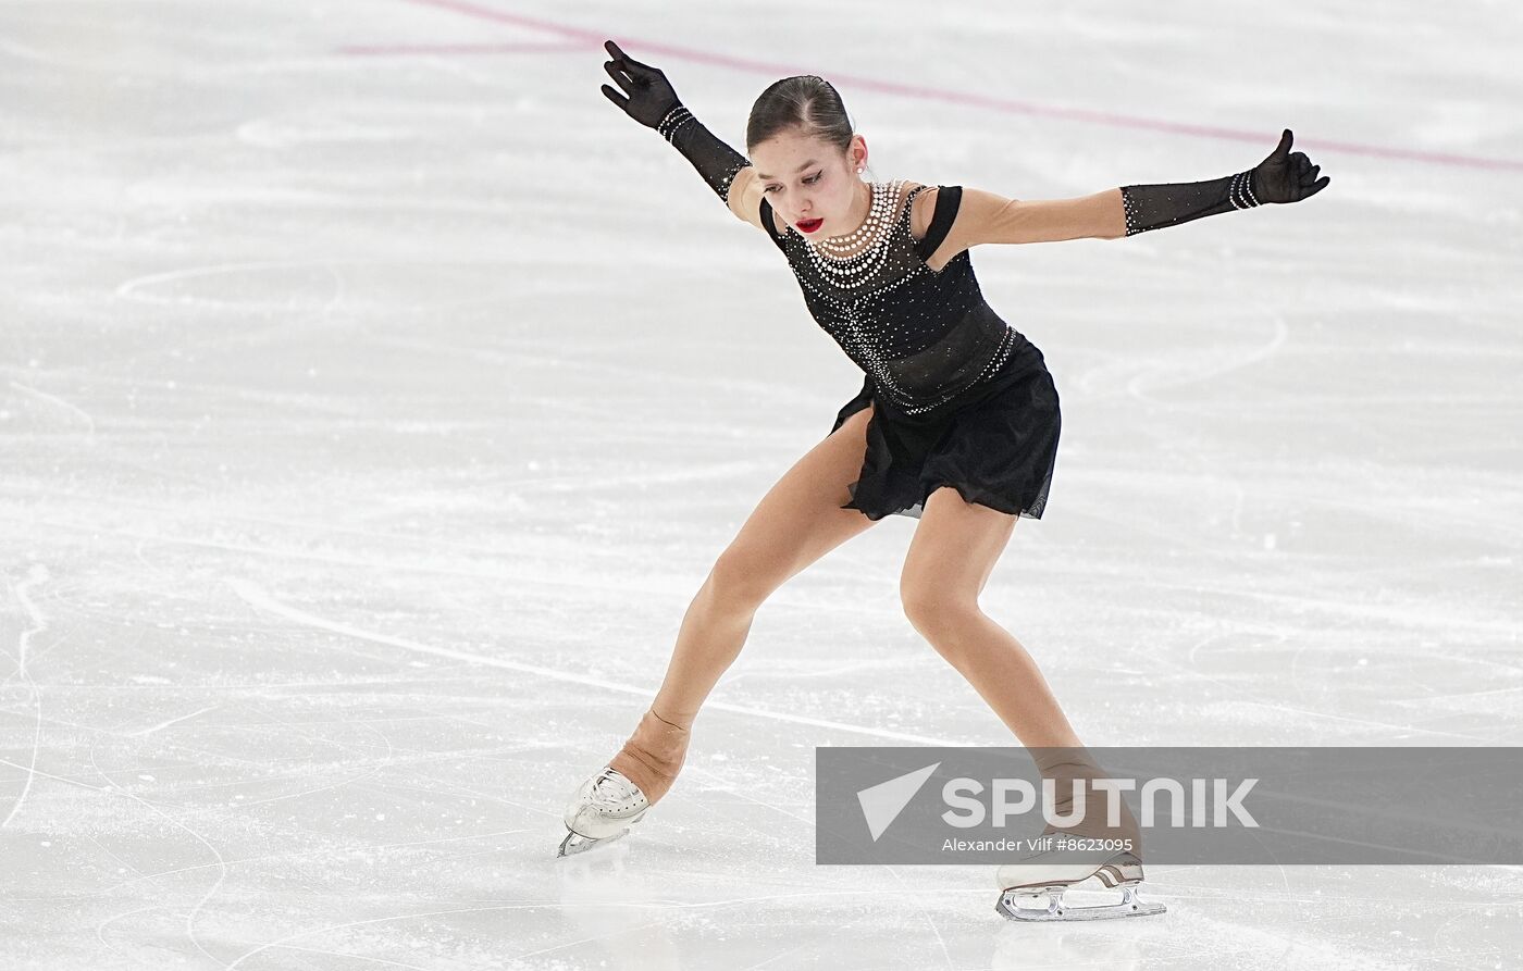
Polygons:
[[567,836],[556,855],[583,852],[627,834],[672,788],[687,756],[687,727],[647,711],[618,755],[571,794],[562,817]]

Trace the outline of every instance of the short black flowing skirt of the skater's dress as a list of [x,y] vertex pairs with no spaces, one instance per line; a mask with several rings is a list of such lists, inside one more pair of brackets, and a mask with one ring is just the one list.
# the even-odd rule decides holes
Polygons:
[[874,521],[920,519],[931,493],[952,486],[967,502],[1042,519],[1063,422],[1052,374],[1034,345],[984,384],[924,414],[885,402],[868,374],[830,431],[868,405],[873,417],[862,472],[841,508]]

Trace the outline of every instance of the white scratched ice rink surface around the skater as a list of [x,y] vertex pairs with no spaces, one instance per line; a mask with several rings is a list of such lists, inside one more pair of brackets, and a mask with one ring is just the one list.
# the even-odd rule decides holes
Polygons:
[[[556,861],[682,613],[860,371],[599,93],[1068,198],[973,251],[1063,403],[982,597],[1086,744],[1523,744],[1512,3],[0,3],[5,968],[1503,968],[1523,872],[1148,864],[1162,918],[816,866],[815,746],[1016,744],[891,517],[790,580],[621,848]],[[595,858],[594,858],[595,857]]]

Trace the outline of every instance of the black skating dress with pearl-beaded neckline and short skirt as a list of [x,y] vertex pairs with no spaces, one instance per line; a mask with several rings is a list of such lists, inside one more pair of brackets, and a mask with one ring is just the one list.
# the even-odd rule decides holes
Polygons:
[[[888,237],[827,262],[797,228],[780,231],[746,175],[731,187],[731,210],[787,256],[815,321],[864,371],[830,429],[873,406],[842,508],[920,517],[931,493],[952,486],[969,502],[1040,519],[1062,429],[1057,388],[1042,352],[984,300],[966,245],[949,240],[963,187],[873,184]],[[959,227],[964,240],[975,218]]]

